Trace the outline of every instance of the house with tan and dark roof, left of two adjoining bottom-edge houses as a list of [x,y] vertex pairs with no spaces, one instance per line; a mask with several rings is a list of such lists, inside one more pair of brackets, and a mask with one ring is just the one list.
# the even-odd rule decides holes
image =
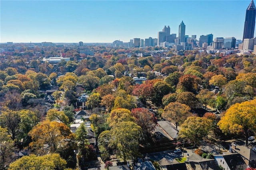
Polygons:
[[180,163],[177,160],[168,160],[162,158],[158,161],[160,170],[187,170],[186,164]]

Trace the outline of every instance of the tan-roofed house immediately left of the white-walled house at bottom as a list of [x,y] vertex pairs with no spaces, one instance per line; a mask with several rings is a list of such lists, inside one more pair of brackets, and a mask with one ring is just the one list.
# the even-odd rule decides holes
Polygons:
[[187,158],[185,164],[188,170],[220,170],[214,159],[202,158],[195,153]]

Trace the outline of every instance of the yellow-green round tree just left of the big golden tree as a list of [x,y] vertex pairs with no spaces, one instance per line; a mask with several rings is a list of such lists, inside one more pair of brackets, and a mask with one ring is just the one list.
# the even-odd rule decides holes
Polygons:
[[193,142],[194,146],[207,136],[210,130],[211,121],[204,117],[188,117],[188,119],[181,125],[179,132],[180,138]]

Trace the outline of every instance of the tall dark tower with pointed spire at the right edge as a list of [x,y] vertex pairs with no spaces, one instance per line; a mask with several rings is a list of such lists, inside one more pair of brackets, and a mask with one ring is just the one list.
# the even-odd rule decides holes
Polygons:
[[248,8],[246,9],[243,40],[254,37],[255,17],[256,17],[256,7],[252,0]]

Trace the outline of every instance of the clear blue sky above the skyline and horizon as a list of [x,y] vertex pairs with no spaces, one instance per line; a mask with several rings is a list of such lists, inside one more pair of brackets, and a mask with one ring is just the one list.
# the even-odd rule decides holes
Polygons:
[[0,0],[0,42],[128,42],[178,35],[242,39],[250,0]]

